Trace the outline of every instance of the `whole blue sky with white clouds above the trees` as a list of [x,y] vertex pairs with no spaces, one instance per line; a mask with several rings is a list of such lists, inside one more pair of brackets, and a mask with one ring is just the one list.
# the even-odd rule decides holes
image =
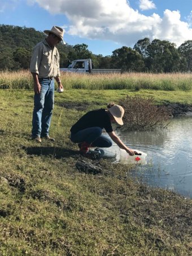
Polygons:
[[69,45],[111,55],[149,37],[180,46],[192,40],[192,0],[0,0],[0,24],[66,31]]

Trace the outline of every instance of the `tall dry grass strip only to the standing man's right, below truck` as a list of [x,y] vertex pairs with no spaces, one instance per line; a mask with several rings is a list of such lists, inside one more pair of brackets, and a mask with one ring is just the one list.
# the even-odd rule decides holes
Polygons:
[[63,73],[61,78],[66,89],[154,89],[184,91],[192,89],[192,76],[189,73],[116,73],[98,75]]

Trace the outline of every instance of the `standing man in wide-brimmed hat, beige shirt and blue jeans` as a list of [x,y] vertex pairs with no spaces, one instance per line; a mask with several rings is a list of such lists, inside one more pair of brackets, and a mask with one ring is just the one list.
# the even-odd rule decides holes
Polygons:
[[[41,143],[41,138],[54,142],[49,136],[51,116],[54,107],[54,79],[59,91],[63,90],[60,81],[59,53],[56,45],[63,41],[64,31],[54,26],[45,30],[48,37],[33,49],[30,72],[34,81],[34,109],[32,120],[32,140]],[[64,44],[66,44],[63,41]]]

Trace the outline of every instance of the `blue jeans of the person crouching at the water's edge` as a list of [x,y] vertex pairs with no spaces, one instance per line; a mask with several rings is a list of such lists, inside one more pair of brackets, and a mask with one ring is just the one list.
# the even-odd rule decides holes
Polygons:
[[80,143],[86,141],[93,147],[111,147],[112,140],[107,136],[102,135],[102,129],[100,127],[89,127],[78,131],[76,133],[71,133],[71,141],[74,143]]

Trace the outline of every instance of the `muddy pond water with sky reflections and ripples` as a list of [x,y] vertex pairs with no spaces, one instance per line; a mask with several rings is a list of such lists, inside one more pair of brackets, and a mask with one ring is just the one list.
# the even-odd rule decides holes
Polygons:
[[[192,198],[192,118],[172,119],[163,131],[116,133],[130,148],[147,153],[146,166],[132,167],[134,177]],[[111,150],[119,161],[119,147]]]

